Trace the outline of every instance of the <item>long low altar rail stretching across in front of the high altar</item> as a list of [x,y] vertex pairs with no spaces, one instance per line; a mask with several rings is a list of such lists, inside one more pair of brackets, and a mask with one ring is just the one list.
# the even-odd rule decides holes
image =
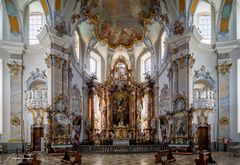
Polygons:
[[80,152],[91,153],[145,153],[163,150],[163,145],[79,145],[75,147]]

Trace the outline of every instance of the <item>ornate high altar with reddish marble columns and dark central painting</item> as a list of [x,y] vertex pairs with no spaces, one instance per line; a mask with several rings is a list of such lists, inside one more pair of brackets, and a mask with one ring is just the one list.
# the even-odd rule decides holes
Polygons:
[[88,89],[88,141],[154,140],[153,83],[138,83],[124,57],[113,64],[105,83],[92,79]]

